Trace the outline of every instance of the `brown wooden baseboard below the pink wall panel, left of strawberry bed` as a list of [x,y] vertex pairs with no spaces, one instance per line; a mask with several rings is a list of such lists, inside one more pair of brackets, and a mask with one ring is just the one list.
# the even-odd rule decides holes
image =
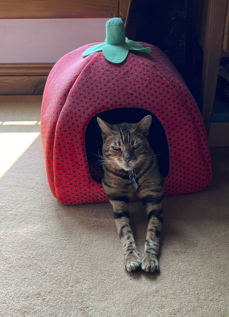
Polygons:
[[0,95],[41,95],[54,64],[0,64]]

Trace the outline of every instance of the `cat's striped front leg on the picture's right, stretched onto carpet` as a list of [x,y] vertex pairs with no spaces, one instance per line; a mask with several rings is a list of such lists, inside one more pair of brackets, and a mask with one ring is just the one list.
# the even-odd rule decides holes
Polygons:
[[148,227],[141,268],[146,272],[154,272],[154,270],[159,269],[159,239],[163,222],[163,209],[161,203],[156,203],[155,201],[152,202],[150,200],[151,198],[149,197],[146,197],[145,201],[143,199],[148,216]]

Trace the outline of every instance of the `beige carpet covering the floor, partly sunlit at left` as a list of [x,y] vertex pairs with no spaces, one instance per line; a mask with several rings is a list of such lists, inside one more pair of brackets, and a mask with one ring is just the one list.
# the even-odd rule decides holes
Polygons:
[[[212,149],[205,191],[164,199],[160,273],[127,273],[112,206],[63,206],[49,190],[41,100],[1,96],[0,316],[226,317],[229,148]],[[142,210],[131,204],[140,251]]]

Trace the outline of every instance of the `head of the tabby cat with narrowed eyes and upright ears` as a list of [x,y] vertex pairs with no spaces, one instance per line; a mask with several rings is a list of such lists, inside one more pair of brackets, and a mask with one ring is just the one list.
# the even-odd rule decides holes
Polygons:
[[144,117],[138,123],[111,125],[97,118],[103,138],[103,159],[116,169],[130,171],[144,163],[150,153],[147,140],[152,118]]

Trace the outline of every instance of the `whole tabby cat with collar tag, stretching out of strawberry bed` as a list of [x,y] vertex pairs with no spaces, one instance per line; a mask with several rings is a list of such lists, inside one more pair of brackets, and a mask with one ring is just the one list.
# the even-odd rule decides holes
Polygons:
[[[97,118],[103,138],[102,184],[114,208],[127,271],[139,267],[146,272],[159,269],[157,256],[163,221],[161,202],[164,187],[157,159],[147,140],[151,120],[151,116],[147,115],[139,123],[111,125]],[[142,259],[136,249],[128,211],[129,201],[135,192],[143,202],[148,216]]]

